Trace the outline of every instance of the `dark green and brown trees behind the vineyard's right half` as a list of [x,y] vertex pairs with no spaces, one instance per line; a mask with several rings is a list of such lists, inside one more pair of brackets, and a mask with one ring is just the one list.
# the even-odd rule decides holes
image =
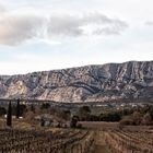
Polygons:
[[93,115],[89,106],[80,107],[78,114],[81,121],[120,121],[121,125],[153,125],[153,106],[144,105],[122,108]]

